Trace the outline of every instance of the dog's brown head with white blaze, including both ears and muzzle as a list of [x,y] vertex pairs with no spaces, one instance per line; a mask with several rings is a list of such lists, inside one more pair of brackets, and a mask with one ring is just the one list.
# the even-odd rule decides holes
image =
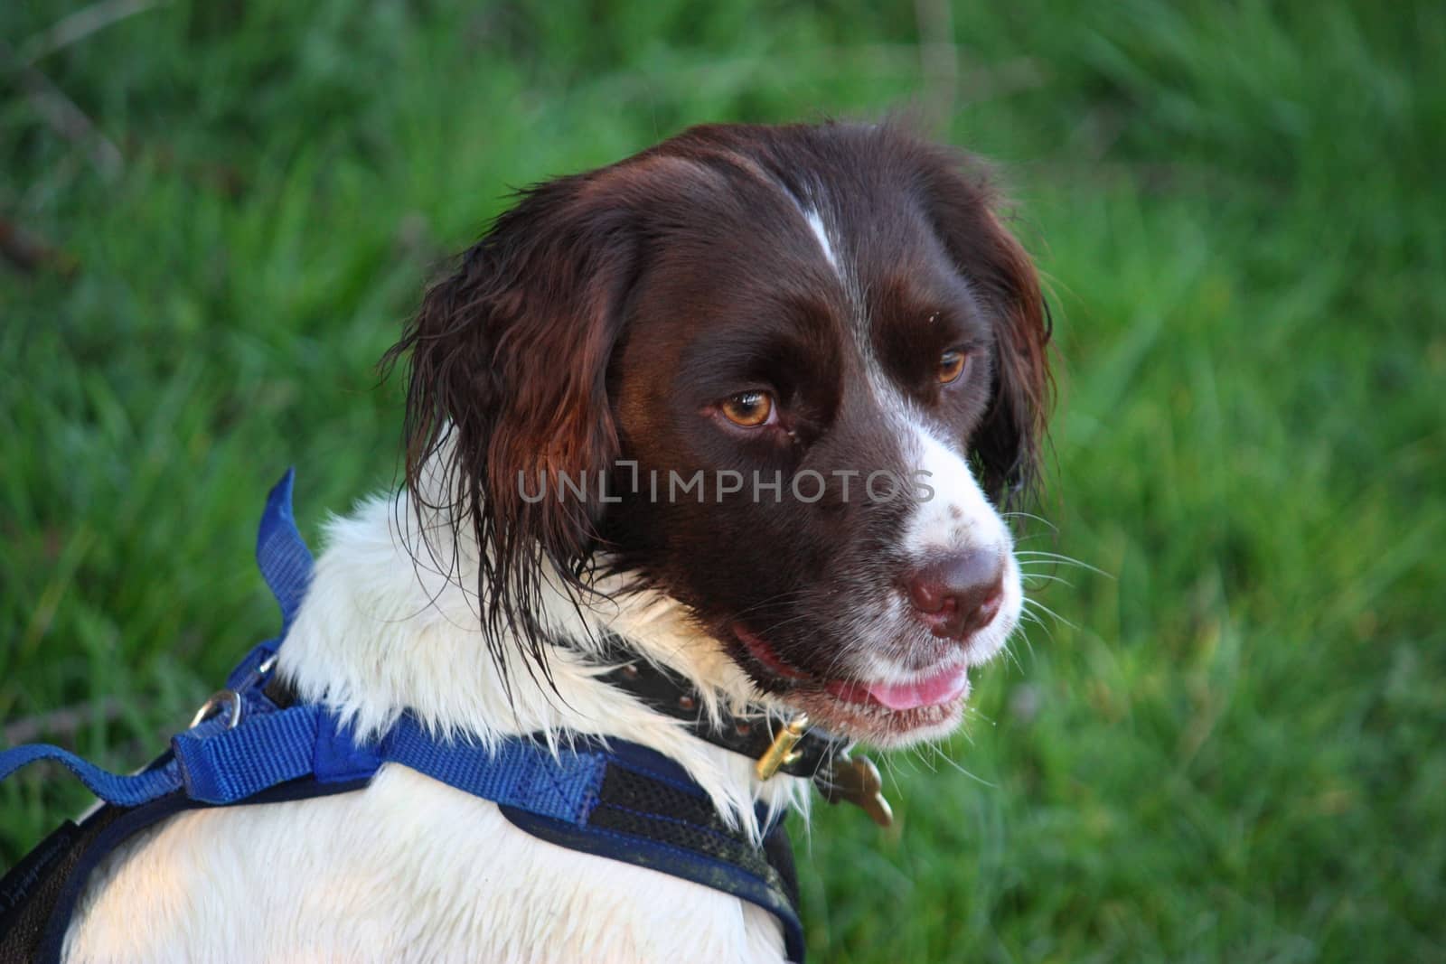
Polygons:
[[953,727],[1019,617],[998,507],[1050,392],[993,204],[966,159],[843,124],[698,127],[528,191],[393,350],[408,481],[447,452],[492,645],[541,658],[544,582],[606,569],[834,731]]

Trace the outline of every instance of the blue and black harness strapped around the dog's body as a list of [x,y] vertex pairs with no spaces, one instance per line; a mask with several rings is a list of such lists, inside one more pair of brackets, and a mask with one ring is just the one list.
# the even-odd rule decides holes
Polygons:
[[[120,776],[48,744],[0,752],[0,780],[55,760],[106,802],[67,822],[0,880],[0,964],[58,961],[88,873],[132,834],[200,806],[268,804],[357,791],[401,763],[493,801],[519,828],[555,844],[649,867],[755,903],[778,916],[790,960],[804,960],[792,854],[782,821],[763,845],[727,828],[703,789],[671,759],[622,740],[581,737],[552,752],[532,737],[487,749],[434,737],[402,715],[359,743],[320,704],[283,705],[270,682],[311,578],[312,558],[291,509],[292,473],[272,489],[256,561],[281,604],[282,630],[252,649],[226,689],[140,773]],[[270,695],[269,695],[270,694]],[[765,819],[759,808],[759,819]]]

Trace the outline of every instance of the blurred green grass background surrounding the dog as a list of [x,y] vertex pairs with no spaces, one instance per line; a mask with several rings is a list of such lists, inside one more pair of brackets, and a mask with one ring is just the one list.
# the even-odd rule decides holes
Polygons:
[[[273,630],[268,486],[314,538],[392,484],[372,366],[508,188],[914,106],[1051,277],[1022,549],[1093,568],[1030,556],[1058,619],[891,760],[899,832],[797,837],[814,960],[1446,960],[1442,4],[52,1],[0,40],[7,741],[133,767]],[[0,788],[0,863],[62,783]]]

